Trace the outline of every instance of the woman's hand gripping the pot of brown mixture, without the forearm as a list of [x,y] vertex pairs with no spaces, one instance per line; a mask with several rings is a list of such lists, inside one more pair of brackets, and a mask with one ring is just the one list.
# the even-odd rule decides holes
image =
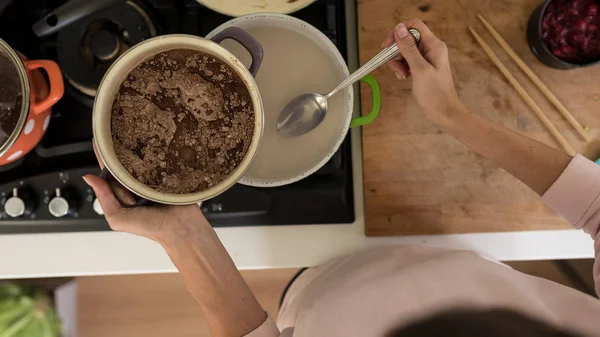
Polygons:
[[[98,162],[102,166],[102,161]],[[109,184],[91,174],[83,179],[94,190],[106,221],[114,231],[144,236],[165,246],[178,238],[189,236],[197,226],[210,227],[198,205],[125,208],[121,206],[115,193],[125,203],[133,204],[135,198],[121,184],[116,181]]]

